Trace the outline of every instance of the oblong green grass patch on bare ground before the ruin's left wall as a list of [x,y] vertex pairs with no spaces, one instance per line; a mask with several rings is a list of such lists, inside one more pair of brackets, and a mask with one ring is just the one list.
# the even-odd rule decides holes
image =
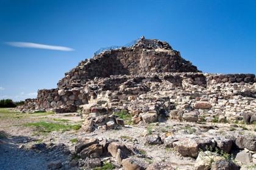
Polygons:
[[78,130],[80,129],[80,124],[61,124],[61,123],[54,123],[54,122],[31,122],[24,124],[25,127],[35,127],[38,132],[42,133],[49,133],[52,131],[68,131],[68,130]]

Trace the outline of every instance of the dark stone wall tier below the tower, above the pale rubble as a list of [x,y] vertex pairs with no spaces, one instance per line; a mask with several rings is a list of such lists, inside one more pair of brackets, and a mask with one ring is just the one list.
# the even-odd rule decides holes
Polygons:
[[[254,83],[254,74],[203,74],[203,73],[154,73],[138,75],[120,75],[110,77],[97,77],[80,87],[62,88],[51,90],[38,90],[37,99],[27,99],[26,108],[29,110],[46,109],[54,112],[76,112],[77,106],[88,104],[88,101],[95,101],[98,95],[109,91],[111,96],[116,91],[122,95],[139,95],[148,93],[158,88],[155,83],[169,82],[174,87],[183,88],[185,91],[193,85],[202,88],[223,83]],[[164,83],[165,84],[165,83]],[[253,97],[251,92],[243,91],[241,96]],[[97,101],[96,101],[97,102]]]

